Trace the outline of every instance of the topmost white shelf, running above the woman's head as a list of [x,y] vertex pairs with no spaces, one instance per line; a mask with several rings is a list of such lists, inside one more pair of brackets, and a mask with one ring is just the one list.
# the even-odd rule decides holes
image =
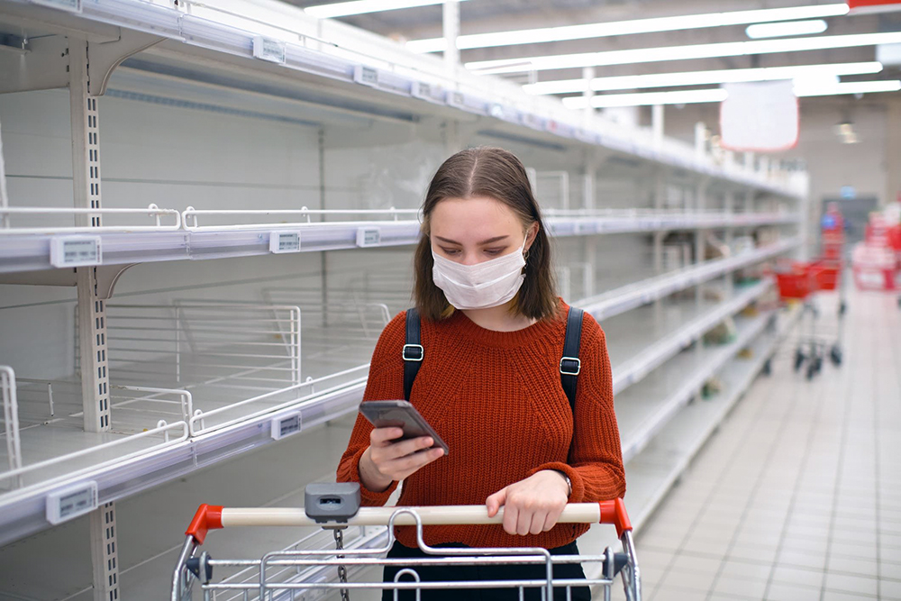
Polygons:
[[[257,17],[251,19],[240,14],[241,5],[226,12],[200,3],[180,4],[95,0],[84,3],[78,14],[25,0],[4,0],[0,5],[10,17],[43,23],[49,31],[77,29],[82,35],[87,32],[91,41],[115,41],[117,28],[141,32],[144,46],[156,44],[140,59],[126,63],[132,71],[143,68],[156,75],[205,83],[212,83],[209,80],[218,74],[226,78],[221,85],[236,89],[241,84],[249,86],[252,78],[270,96],[407,122],[427,115],[490,118],[498,129],[509,128],[520,136],[601,146],[771,194],[805,195],[804,182],[775,182],[769,174],[733,163],[719,165],[709,156],[698,155],[690,144],[655,141],[650,131],[625,128],[601,117],[586,123],[583,114],[567,110],[557,99],[529,96],[511,82],[479,77],[465,69],[451,75],[440,59],[417,55],[341,23],[316,20],[299,10],[267,11],[257,5]],[[277,45],[278,56],[255,59],[258,36]],[[251,67],[252,77],[244,72],[248,81],[236,80],[236,70]]]

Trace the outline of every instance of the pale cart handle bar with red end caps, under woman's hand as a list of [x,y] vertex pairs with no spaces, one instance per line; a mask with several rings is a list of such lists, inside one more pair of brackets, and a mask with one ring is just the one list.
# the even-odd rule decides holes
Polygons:
[[[348,520],[350,526],[385,526],[400,507],[361,507],[359,513]],[[488,517],[485,505],[434,505],[408,507],[419,515],[423,525],[447,524],[502,524],[504,508],[494,517]],[[411,514],[398,514],[395,525],[414,526]],[[614,524],[620,537],[632,530],[623,499],[600,503],[570,503],[560,514],[559,524]],[[197,544],[203,544],[206,533],[217,528],[233,526],[317,526],[307,517],[303,507],[247,507],[232,508],[222,505],[200,505],[191,525],[185,532]]]

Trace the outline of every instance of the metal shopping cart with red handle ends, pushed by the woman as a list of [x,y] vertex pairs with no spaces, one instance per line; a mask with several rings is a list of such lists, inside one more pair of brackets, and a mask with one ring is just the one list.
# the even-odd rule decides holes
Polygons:
[[[323,487],[323,485],[314,485]],[[311,494],[307,488],[306,509],[303,508],[229,508],[200,505],[187,529],[187,540],[178,557],[172,578],[171,601],[194,598],[192,588],[200,581],[205,600],[235,598],[242,600],[341,598],[351,595],[369,597],[383,589],[414,590],[416,598],[425,589],[490,588],[518,589],[519,598],[526,590],[538,589],[542,599],[553,599],[553,590],[565,589],[569,599],[570,587],[599,587],[609,601],[617,576],[622,578],[625,598],[640,601],[641,578],[632,536],[632,525],[622,499],[602,503],[569,504],[560,516],[561,524],[613,524],[623,545],[622,552],[607,547],[601,555],[551,555],[542,548],[433,548],[423,541],[423,526],[433,524],[501,524],[503,508],[494,518],[487,516],[484,505],[450,505],[431,507],[359,507],[359,488],[347,494],[349,485],[331,485]],[[355,485],[350,485],[355,486]],[[344,487],[343,489],[341,487]],[[330,493],[329,490],[336,491]],[[356,506],[354,506],[356,505]],[[344,509],[341,507],[343,506]],[[346,510],[350,507],[350,510]],[[337,508],[337,509],[336,509]],[[387,551],[395,541],[395,526],[415,526],[419,548],[427,555],[422,559],[388,559]],[[335,548],[273,551],[260,559],[214,560],[206,551],[198,552],[208,531],[236,526],[313,526],[332,530]],[[387,526],[387,544],[378,548],[343,548],[344,529],[350,526]],[[587,579],[564,579],[552,576],[552,566],[581,563]],[[420,581],[419,566],[501,566],[513,564],[541,565],[546,578],[531,580],[478,580],[433,582]],[[381,567],[403,566],[392,582],[383,582]],[[592,570],[592,567],[594,570]],[[379,568],[374,570],[373,568]],[[216,581],[220,570],[259,570],[259,578],[240,582]],[[353,573],[354,578],[348,578]],[[288,575],[288,578],[285,575]],[[323,574],[331,575],[324,578]],[[369,578],[356,578],[357,576]],[[378,574],[377,576],[374,574]],[[590,575],[596,574],[596,578]],[[337,578],[335,578],[337,576]],[[405,579],[402,579],[405,578]],[[534,593],[532,593],[534,595]]]

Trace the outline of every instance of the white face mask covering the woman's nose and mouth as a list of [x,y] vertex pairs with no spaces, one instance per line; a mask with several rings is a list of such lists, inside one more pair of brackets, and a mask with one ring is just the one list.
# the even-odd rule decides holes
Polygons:
[[523,286],[525,241],[503,257],[475,265],[461,265],[435,254],[432,279],[444,291],[448,302],[457,309],[487,309],[504,305]]

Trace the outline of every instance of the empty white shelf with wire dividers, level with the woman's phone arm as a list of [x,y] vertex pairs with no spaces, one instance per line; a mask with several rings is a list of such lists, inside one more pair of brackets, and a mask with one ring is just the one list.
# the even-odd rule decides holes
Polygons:
[[[647,327],[647,323],[652,323],[652,320],[642,312],[624,314],[618,320],[605,323],[608,340],[613,341],[610,352],[614,361],[614,391],[620,393],[641,381],[710,327],[751,303],[769,286],[771,283],[764,281],[739,289],[732,298],[719,304],[696,305],[694,300],[672,304],[664,307],[663,317],[654,328]],[[273,303],[284,304],[294,300],[303,311],[305,306],[309,309],[314,305],[305,305],[310,300],[305,299],[302,290],[303,286],[273,288],[267,294]],[[306,294],[311,293],[307,291]],[[243,366],[246,369],[235,374],[232,368],[224,369],[215,363],[209,363],[209,357],[202,352],[193,355],[185,352],[176,362],[171,360],[171,351],[168,351],[167,359],[161,349],[152,344],[137,342],[139,348],[152,349],[157,352],[157,356],[149,361],[141,360],[140,355],[129,357],[122,352],[114,353],[115,356],[123,357],[125,363],[111,366],[113,384],[188,391],[193,398],[193,407],[187,411],[187,415],[192,415],[192,412],[194,414],[187,417],[186,410],[183,407],[179,409],[177,404],[162,407],[159,396],[129,392],[127,394],[130,396],[114,398],[114,427],[122,428],[115,434],[92,434],[79,430],[77,408],[80,390],[74,385],[74,381],[69,382],[68,389],[59,383],[55,389],[54,398],[59,409],[57,415],[67,419],[46,420],[49,399],[45,398],[41,383],[37,383],[32,392],[23,396],[23,401],[28,405],[23,410],[23,420],[32,426],[24,430],[23,440],[27,440],[27,444],[23,451],[29,453],[24,463],[27,468],[28,465],[41,461],[52,462],[36,472],[39,477],[26,477],[24,487],[0,496],[0,507],[8,509],[0,512],[3,542],[46,527],[43,499],[63,484],[87,478],[96,479],[101,491],[101,502],[121,499],[232,456],[236,449],[249,450],[267,445],[272,442],[268,434],[269,423],[276,415],[299,411],[307,428],[355,411],[365,387],[367,361],[378,332],[387,317],[402,308],[403,302],[404,299],[398,297],[390,307],[375,307],[375,313],[369,322],[357,323],[353,327],[341,326],[341,320],[335,321],[334,315],[331,327],[323,327],[321,313],[317,315],[312,311],[307,314],[309,319],[304,321],[301,332],[300,343],[304,353],[301,355],[300,378],[304,381],[300,384],[293,383],[294,380],[290,379],[295,376],[294,371],[286,367],[290,365],[287,356],[249,363]],[[110,344],[111,349],[115,350],[118,344],[115,305],[111,305],[109,311],[112,324]],[[134,309],[130,308],[129,311],[133,312]],[[652,312],[653,307],[646,307],[642,311]],[[349,313],[356,318],[359,316],[359,309],[355,308]],[[158,314],[151,311],[149,315]],[[171,328],[164,323],[158,321],[156,327],[164,332],[164,338],[171,346]],[[141,323],[132,327],[137,332]],[[620,330],[622,333],[618,333]],[[124,338],[131,339],[131,336],[125,335]],[[214,341],[214,338],[210,340]],[[134,340],[127,342],[132,345],[136,343]],[[234,346],[215,349],[216,352],[247,357],[246,351],[241,355]],[[176,371],[176,364],[179,371]],[[202,369],[195,369],[198,365]],[[141,369],[138,369],[139,366]],[[274,368],[281,371],[272,371]],[[121,374],[123,381],[115,381],[117,373]],[[318,383],[318,387],[311,387],[306,383],[305,378],[320,376],[323,380]],[[149,399],[149,396],[152,398]],[[197,411],[203,413],[197,415]],[[160,415],[161,413],[165,414]],[[126,417],[122,418],[123,415]],[[143,421],[138,419],[141,417]],[[133,443],[138,441],[137,438],[129,440],[128,435],[138,436],[147,427],[148,417],[153,423],[159,418],[166,419],[167,427],[177,429],[179,433],[187,422],[192,436],[188,440],[179,440],[173,434],[169,442],[166,442],[159,431],[141,433],[141,444],[136,451],[143,450],[143,453],[125,458],[124,450],[131,450]],[[44,423],[45,421],[50,423]],[[101,446],[111,442],[110,439],[114,437],[124,441],[115,451]],[[48,440],[52,443],[48,444]],[[149,445],[150,442],[153,442],[150,447],[141,446]],[[71,456],[73,452],[86,447],[93,451],[77,457]],[[118,458],[109,456],[109,453],[118,453]],[[7,483],[5,486],[9,487],[11,484]],[[10,519],[9,522],[4,519],[6,517]]]

